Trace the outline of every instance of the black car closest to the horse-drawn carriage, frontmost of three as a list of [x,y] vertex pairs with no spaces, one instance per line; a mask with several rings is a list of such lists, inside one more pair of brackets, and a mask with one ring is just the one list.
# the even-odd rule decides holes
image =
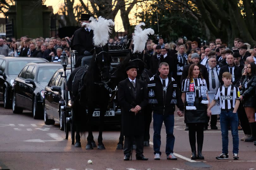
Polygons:
[[[67,79],[69,78],[71,70],[66,71]],[[45,87],[44,107],[44,121],[46,125],[54,124],[55,121],[60,123],[60,129],[64,130],[64,120],[61,113],[61,107],[64,103],[64,70],[57,70],[48,85]]]

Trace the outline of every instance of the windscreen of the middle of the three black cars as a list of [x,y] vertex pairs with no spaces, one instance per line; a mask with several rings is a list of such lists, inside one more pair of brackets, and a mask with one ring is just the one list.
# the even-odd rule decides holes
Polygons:
[[49,82],[52,75],[61,67],[39,67],[37,73],[38,82]]

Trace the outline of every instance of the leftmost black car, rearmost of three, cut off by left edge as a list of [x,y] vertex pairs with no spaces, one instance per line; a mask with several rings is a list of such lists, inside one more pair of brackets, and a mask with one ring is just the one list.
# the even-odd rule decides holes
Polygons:
[[21,69],[30,62],[48,62],[36,57],[1,57],[0,58],[0,99],[4,108],[10,108],[12,103],[12,86]]

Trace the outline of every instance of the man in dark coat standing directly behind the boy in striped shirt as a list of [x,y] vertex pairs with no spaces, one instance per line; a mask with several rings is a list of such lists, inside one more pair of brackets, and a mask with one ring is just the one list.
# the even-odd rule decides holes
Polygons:
[[229,72],[232,74],[231,83],[232,83],[232,85],[235,85],[237,83],[237,81],[239,81],[242,77],[242,70],[240,67],[237,67],[235,65],[234,57],[232,55],[228,55],[226,60],[227,60],[228,65],[222,66],[220,69],[220,73],[219,73],[220,83],[221,83],[221,85],[223,85],[222,74],[224,72]]

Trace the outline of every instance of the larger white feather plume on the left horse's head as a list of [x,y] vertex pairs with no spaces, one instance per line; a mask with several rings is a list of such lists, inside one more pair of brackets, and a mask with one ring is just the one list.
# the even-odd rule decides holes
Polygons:
[[[93,43],[95,46],[104,46],[109,40],[109,33],[111,33],[110,26],[114,26],[115,23],[112,20],[107,20],[103,17],[99,17],[98,21],[93,17],[89,19],[90,23],[85,23],[92,28],[94,36]],[[85,25],[84,24],[84,25]]]

